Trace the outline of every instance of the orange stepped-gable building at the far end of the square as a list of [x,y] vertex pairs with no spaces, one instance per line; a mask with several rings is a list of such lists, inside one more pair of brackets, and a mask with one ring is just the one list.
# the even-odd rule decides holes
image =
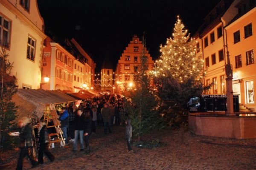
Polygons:
[[[145,47],[140,38],[134,35],[116,65],[115,93],[122,94],[122,92],[128,88],[135,88],[133,75],[138,72],[138,65],[140,64],[140,56],[142,55],[143,48]],[[148,57],[148,63],[145,67],[148,72],[153,71],[154,61],[147,49],[145,49],[144,55]]]

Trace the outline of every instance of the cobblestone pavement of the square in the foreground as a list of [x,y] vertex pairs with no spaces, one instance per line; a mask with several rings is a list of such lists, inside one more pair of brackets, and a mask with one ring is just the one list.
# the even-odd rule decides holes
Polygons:
[[[256,170],[256,139],[236,140],[197,136],[189,131],[163,130],[144,139],[160,139],[167,146],[157,149],[133,148],[128,153],[124,139],[125,127],[113,127],[105,136],[102,127],[90,136],[91,153],[72,152],[70,148],[51,149],[55,161],[46,157],[35,170]],[[18,151],[16,151],[18,152]],[[3,169],[15,169],[17,157]],[[24,169],[30,169],[24,160]],[[0,168],[1,169],[1,168]]]

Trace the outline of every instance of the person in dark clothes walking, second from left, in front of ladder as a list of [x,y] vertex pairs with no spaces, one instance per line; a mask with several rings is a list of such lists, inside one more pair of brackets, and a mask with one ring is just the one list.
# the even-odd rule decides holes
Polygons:
[[49,137],[46,123],[44,120],[40,121],[41,130],[39,132],[39,150],[38,150],[38,163],[44,164],[44,154],[52,162],[55,157],[49,151]]

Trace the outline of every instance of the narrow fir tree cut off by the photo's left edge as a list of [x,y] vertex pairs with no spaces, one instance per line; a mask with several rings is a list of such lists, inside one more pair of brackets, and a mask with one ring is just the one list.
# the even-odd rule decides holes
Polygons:
[[12,77],[13,63],[8,60],[6,48],[0,51],[0,152],[12,147],[13,140],[8,133],[12,130],[17,106],[12,102],[12,96],[17,92],[17,79]]

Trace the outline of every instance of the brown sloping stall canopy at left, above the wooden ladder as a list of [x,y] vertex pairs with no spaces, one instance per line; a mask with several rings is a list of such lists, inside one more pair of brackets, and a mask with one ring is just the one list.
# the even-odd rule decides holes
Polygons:
[[44,111],[49,104],[61,104],[75,102],[77,99],[58,91],[48,91],[43,89],[25,90],[18,89],[12,101],[19,108],[17,109],[17,119],[28,116],[35,111],[38,118],[44,115]]

